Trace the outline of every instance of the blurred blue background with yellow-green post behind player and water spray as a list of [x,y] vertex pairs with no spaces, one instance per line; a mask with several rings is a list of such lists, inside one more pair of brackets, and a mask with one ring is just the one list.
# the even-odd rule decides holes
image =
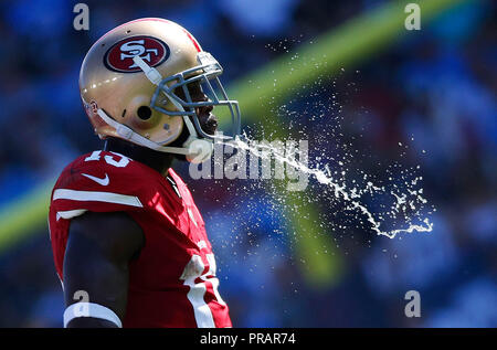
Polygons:
[[[298,194],[192,181],[178,165],[235,327],[497,326],[495,2],[417,1],[420,31],[403,26],[406,2],[381,0],[85,1],[89,31],[76,31],[76,2],[0,4],[0,327],[62,327],[49,193],[63,167],[102,147],[82,108],[80,65],[101,35],[142,17],[177,21],[221,62],[244,129],[261,136],[265,120],[298,119],[311,149],[336,130],[337,142],[373,155],[355,169],[376,179],[392,162],[419,165],[436,208],[431,233],[393,240],[339,230],[319,200],[308,210],[327,224],[303,227],[285,213]],[[292,81],[292,60],[311,72]],[[341,150],[328,147],[327,158]],[[305,195],[313,191],[321,189],[311,183]],[[411,289],[420,318],[404,316]]]

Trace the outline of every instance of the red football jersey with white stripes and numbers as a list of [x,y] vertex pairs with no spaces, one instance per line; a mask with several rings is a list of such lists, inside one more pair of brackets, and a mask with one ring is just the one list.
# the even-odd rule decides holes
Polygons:
[[[181,178],[123,155],[94,151],[61,173],[49,213],[55,268],[62,280],[70,221],[93,212],[128,213],[145,246],[129,264],[124,327],[231,327],[203,219]],[[102,232],[105,234],[105,232]]]

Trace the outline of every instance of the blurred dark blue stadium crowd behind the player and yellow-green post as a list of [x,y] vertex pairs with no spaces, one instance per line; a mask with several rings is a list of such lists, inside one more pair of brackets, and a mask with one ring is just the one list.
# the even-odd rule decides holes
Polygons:
[[[77,77],[87,49],[115,25],[141,17],[179,22],[223,64],[229,86],[383,3],[85,2],[91,9],[88,32],[72,28],[70,1],[0,4],[0,208],[57,176],[78,155],[101,147],[84,115]],[[371,244],[345,242],[347,254],[342,247],[336,252],[343,273],[329,287],[315,288],[292,257],[285,240],[289,234],[277,240],[268,234],[287,229],[275,220],[277,213],[263,206],[271,201],[266,193],[254,189],[250,198],[234,199],[224,190],[209,200],[199,194],[205,182],[189,181],[187,174],[211,227],[221,294],[236,327],[497,326],[497,55],[491,13],[491,1],[466,2],[355,67],[359,74],[346,72],[339,83],[329,83],[339,93],[347,82],[356,82],[358,92],[343,103],[345,119],[366,127],[363,149],[388,162],[399,141],[411,146],[409,157],[421,165],[424,191],[437,209],[431,234],[388,240],[356,232],[356,237],[368,235],[363,240]],[[348,128],[346,137],[357,132]],[[252,211],[244,201],[251,201]],[[239,204],[226,210],[223,202]],[[251,230],[253,211],[262,216]],[[224,244],[231,237],[242,238]],[[419,319],[403,314],[410,289],[421,293]],[[0,326],[61,327],[62,312],[46,230],[1,252]]]

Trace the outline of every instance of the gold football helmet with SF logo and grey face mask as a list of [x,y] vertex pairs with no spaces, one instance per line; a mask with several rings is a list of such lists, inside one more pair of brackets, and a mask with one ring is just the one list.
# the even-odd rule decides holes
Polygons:
[[[80,72],[80,92],[102,139],[117,137],[200,162],[210,157],[215,139],[240,132],[239,104],[228,98],[219,79],[222,72],[181,25],[146,18],[113,29],[89,49]],[[205,98],[192,100],[192,85],[200,86]],[[208,106],[229,108],[230,136],[202,129],[197,110]],[[168,146],[184,131],[182,145]]]

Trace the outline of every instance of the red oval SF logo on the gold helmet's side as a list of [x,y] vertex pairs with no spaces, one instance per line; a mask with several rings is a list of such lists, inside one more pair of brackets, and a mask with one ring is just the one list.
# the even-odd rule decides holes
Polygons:
[[140,56],[149,66],[161,64],[169,57],[169,47],[161,40],[152,36],[138,35],[127,38],[115,43],[104,56],[104,64],[107,68],[121,72],[141,72],[133,61],[133,57]]

